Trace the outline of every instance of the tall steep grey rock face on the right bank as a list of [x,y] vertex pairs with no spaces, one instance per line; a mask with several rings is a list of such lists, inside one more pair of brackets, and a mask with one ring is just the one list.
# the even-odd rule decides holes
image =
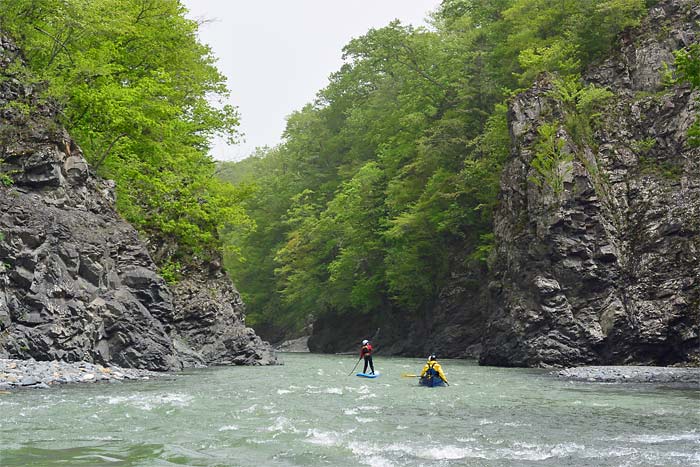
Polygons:
[[[576,141],[542,78],[510,111],[514,148],[495,219],[495,287],[480,361],[507,366],[670,364],[700,353],[700,150],[686,144],[698,92],[665,88],[672,52],[698,40],[700,6],[667,0],[586,82],[602,121]],[[556,123],[561,189],[532,177]]]

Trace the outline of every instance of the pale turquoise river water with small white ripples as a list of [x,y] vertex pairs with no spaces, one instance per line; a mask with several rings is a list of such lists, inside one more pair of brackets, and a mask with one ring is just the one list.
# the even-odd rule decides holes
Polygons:
[[382,358],[281,354],[284,365],[0,395],[8,466],[700,465],[700,391],[559,380],[444,360],[449,387]]

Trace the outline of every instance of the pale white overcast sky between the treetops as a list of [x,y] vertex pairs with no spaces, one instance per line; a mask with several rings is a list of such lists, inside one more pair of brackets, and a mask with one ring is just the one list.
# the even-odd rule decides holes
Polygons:
[[189,17],[210,20],[200,39],[219,58],[245,141],[217,142],[212,156],[239,160],[274,146],[285,118],[311,102],[342,64],[353,37],[393,19],[425,25],[440,0],[183,0]]

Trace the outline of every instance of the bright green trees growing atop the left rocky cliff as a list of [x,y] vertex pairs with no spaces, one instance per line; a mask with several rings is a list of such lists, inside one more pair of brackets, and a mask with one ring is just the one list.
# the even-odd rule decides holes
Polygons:
[[[219,231],[250,224],[237,193],[213,178],[212,136],[236,136],[225,78],[178,0],[0,0],[0,22],[31,74],[48,83],[63,124],[120,213],[168,265],[220,248]],[[159,250],[160,251],[160,250]],[[169,258],[172,256],[172,258]]]

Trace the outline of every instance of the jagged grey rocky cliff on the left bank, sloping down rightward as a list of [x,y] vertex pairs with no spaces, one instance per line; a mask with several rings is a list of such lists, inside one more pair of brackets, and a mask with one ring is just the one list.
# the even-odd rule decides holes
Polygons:
[[[0,357],[172,370],[270,364],[220,268],[170,288],[0,35]],[[20,63],[21,65],[21,63]]]

